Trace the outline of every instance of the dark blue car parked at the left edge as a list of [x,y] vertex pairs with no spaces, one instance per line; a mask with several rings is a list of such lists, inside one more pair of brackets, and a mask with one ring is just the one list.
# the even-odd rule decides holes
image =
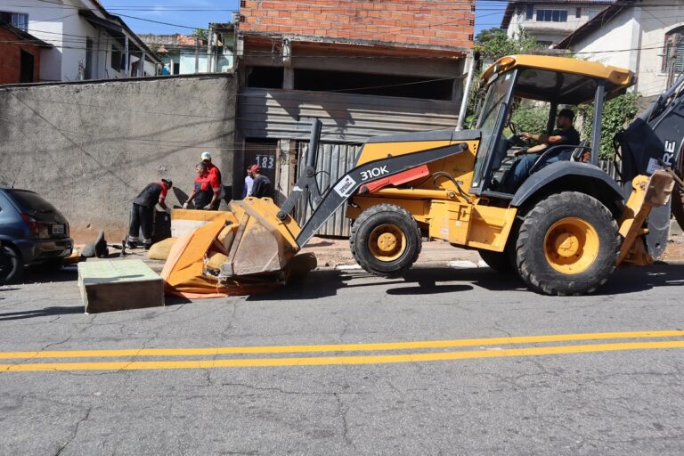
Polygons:
[[0,187],[0,245],[0,282],[12,282],[26,265],[60,268],[74,241],[67,219],[36,192]]

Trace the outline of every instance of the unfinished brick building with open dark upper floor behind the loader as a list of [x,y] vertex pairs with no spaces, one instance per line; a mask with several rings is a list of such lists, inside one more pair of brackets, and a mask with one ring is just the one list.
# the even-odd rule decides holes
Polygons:
[[[297,178],[312,118],[323,187],[371,136],[456,125],[474,0],[243,0],[239,17],[235,169],[266,165],[276,199]],[[346,230],[340,213],[322,233]]]

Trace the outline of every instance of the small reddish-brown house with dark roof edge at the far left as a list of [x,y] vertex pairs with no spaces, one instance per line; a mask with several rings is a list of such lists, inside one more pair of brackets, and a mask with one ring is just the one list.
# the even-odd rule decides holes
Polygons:
[[0,85],[37,82],[40,54],[51,47],[20,28],[0,21]]

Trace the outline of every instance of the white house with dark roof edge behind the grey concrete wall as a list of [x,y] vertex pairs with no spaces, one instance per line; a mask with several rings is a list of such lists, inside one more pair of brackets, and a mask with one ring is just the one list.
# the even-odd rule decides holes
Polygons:
[[158,72],[159,59],[126,22],[107,12],[97,0],[0,0],[0,20],[54,46],[41,53],[41,81]]

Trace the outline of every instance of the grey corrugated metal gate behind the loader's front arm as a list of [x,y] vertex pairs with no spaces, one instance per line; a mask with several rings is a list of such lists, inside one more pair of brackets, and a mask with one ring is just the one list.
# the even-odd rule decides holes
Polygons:
[[[321,193],[330,189],[330,185],[336,183],[346,171],[353,168],[361,151],[361,144],[332,144],[321,143],[318,146],[318,159],[316,159],[316,182],[321,188]],[[309,151],[308,142],[298,143],[297,178],[304,173],[306,154]],[[311,216],[312,204],[308,195],[299,199],[295,209],[297,223],[301,226]],[[320,236],[344,236],[349,237],[350,221],[345,216],[346,206],[339,208],[316,233]]]

